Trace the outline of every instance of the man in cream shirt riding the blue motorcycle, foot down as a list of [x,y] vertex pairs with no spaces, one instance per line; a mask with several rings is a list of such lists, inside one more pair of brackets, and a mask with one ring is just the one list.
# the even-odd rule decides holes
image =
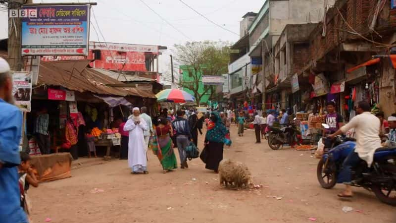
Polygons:
[[334,138],[337,135],[346,133],[349,129],[354,128],[356,132],[356,147],[349,153],[343,163],[343,168],[338,176],[337,182],[346,184],[345,191],[338,194],[339,197],[352,197],[352,167],[358,165],[361,160],[367,162],[368,167],[373,162],[375,151],[381,147],[380,119],[370,113],[370,105],[365,101],[358,103],[356,108],[358,115],[353,117],[346,125],[341,127],[335,133],[329,135]]

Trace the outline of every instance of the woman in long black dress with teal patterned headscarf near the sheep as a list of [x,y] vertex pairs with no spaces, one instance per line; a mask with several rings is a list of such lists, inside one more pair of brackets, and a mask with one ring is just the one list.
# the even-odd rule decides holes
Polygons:
[[207,125],[205,150],[207,153],[205,168],[217,173],[220,161],[223,160],[224,143],[229,146],[231,141],[226,139],[227,129],[217,111],[213,111]]

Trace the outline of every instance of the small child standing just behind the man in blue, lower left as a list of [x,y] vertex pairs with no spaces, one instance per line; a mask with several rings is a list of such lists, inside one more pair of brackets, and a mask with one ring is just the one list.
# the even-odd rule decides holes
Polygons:
[[29,154],[26,152],[20,152],[19,155],[21,157],[21,165],[18,167],[21,207],[27,215],[30,215],[30,204],[29,199],[27,198],[27,190],[29,189],[29,185],[38,187],[39,181],[37,180],[33,169],[30,167],[31,158]]

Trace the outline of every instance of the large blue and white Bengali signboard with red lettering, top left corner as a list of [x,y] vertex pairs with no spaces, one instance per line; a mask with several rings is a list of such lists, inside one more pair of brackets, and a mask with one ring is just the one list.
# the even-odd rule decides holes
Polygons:
[[88,55],[90,5],[29,5],[22,18],[22,56]]

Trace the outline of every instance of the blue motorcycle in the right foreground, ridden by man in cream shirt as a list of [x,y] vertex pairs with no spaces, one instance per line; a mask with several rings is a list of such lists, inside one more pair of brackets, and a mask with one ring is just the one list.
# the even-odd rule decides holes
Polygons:
[[[356,145],[342,136],[335,141],[339,145],[325,152],[316,170],[320,185],[326,189],[336,185],[344,160]],[[371,167],[365,161],[353,167],[352,186],[371,190],[381,202],[396,206],[396,148],[377,149]]]

